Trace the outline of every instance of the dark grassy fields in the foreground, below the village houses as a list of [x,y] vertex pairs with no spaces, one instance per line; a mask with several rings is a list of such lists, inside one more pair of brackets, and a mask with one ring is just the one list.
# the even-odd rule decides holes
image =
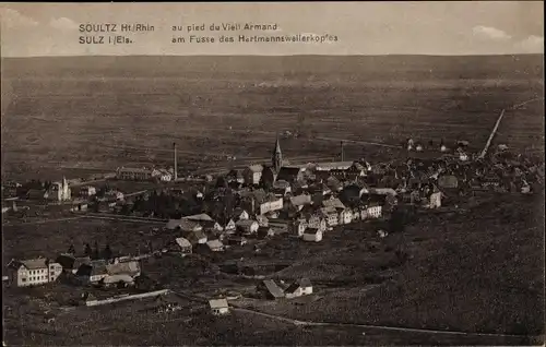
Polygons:
[[[171,321],[155,313],[144,314],[141,312],[144,303],[133,302],[116,304],[111,309],[76,308],[71,313],[60,314],[55,327],[33,325],[32,322],[39,320],[34,318],[26,328],[34,332],[36,343],[54,345],[97,344],[96,338],[102,338],[105,344],[136,344],[139,339],[149,344],[188,344],[191,338],[198,345],[254,345],[260,338],[283,345],[295,342],[404,344],[408,340],[416,344],[527,344],[525,335],[544,335],[545,259],[543,242],[538,242],[544,240],[543,196],[486,196],[473,199],[465,207],[468,211],[461,214],[423,215],[416,224],[407,226],[404,234],[393,234],[384,240],[373,235],[377,227],[372,224],[361,224],[330,231],[319,244],[280,237],[262,248],[265,255],[252,255],[252,248],[247,247],[245,251],[228,251],[216,258],[217,264],[240,258],[247,263],[288,260],[292,265],[269,275],[285,280],[310,277],[318,298],[316,301],[275,302],[252,298],[258,279],[218,273],[206,260],[210,256],[183,260],[167,256],[143,263],[144,272],[176,290],[207,298],[218,289],[232,289],[244,294],[242,299],[234,301],[238,307],[342,326],[296,327],[269,318],[252,318],[256,313],[241,311],[211,322],[205,313],[189,309],[182,310]],[[10,227],[4,230],[4,256],[54,255],[70,242],[78,248],[85,240],[98,240],[99,244],[109,241],[112,249],[128,252],[146,242],[146,237],[136,232],[143,229],[149,229],[149,226],[84,218]],[[410,258],[396,262],[396,249]],[[36,304],[36,298],[43,296],[34,292],[39,290],[31,289],[22,295],[10,289],[4,304],[17,307],[13,302],[26,297],[26,303],[20,308],[31,310],[29,302],[32,307]],[[59,292],[74,296],[75,290],[81,291],[63,289],[62,286],[50,290],[54,296],[60,296]],[[189,307],[195,308],[195,304]],[[95,315],[100,320],[90,326],[88,322]],[[64,330],[64,321],[74,322],[73,328]],[[79,326],[83,324],[88,333],[81,332]],[[173,324],[182,324],[187,327],[186,333],[176,333],[178,330],[170,328]],[[249,324],[256,332],[249,333]],[[344,324],[523,336],[376,332]],[[16,320],[7,321],[12,342],[22,338],[20,325]],[[224,327],[218,326],[230,333],[224,334]],[[164,334],[154,333],[157,330]],[[363,336],[361,332],[367,335]]]

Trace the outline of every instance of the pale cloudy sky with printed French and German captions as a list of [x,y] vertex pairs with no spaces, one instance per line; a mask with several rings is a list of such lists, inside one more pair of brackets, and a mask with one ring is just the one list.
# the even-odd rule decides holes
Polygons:
[[[544,53],[543,1],[2,3],[2,57],[129,55],[511,55]],[[276,31],[211,32],[211,24],[277,24]],[[81,33],[81,24],[117,24]],[[154,32],[120,33],[122,23]],[[204,32],[187,26],[205,24]],[[182,26],[174,32],[173,26]],[[105,35],[106,34],[106,35]],[[322,43],[239,43],[239,35],[320,37]],[[131,44],[80,44],[81,36]],[[189,36],[215,43],[189,43]],[[219,36],[235,43],[219,43]],[[173,43],[185,37],[186,43]]]

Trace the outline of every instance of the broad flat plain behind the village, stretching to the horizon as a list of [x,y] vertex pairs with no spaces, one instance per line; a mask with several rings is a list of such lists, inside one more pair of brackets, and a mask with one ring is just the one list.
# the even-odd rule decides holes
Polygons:
[[[502,108],[544,89],[542,56],[44,58],[3,59],[2,70],[10,177],[171,165],[174,141],[182,170],[242,165],[268,160],[284,131],[301,134],[282,142],[296,163],[339,157],[336,139],[464,137],[480,148]],[[507,112],[498,141],[543,151],[543,105]]]

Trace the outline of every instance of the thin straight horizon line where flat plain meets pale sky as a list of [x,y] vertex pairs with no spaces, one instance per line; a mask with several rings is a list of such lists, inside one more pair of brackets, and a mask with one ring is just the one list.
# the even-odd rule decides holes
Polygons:
[[185,58],[185,57],[260,57],[260,58],[282,58],[282,57],[508,57],[508,56],[544,56],[541,53],[474,53],[474,55],[429,55],[429,53],[383,53],[383,55],[312,55],[312,53],[298,53],[298,55],[73,55],[73,56],[11,56],[0,57],[1,59],[33,59],[33,58],[155,58],[155,57],[169,57],[169,58]]

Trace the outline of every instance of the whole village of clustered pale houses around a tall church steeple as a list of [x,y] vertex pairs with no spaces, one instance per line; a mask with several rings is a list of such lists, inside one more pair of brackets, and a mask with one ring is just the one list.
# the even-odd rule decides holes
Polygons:
[[[363,158],[293,165],[283,157],[277,136],[271,163],[233,169],[215,178],[179,178],[175,145],[171,169],[120,167],[115,175],[99,177],[97,183],[70,184],[67,179],[3,183],[4,223],[44,217],[33,216],[33,208],[24,204],[35,201],[59,208],[61,215],[143,225],[151,222],[154,226],[141,228],[139,232],[149,242],[130,253],[119,254],[109,244],[102,249],[96,241],[92,247],[90,241],[79,250],[80,246],[67,244],[56,259],[12,259],[4,264],[2,282],[9,287],[62,282],[84,288],[83,295],[71,301],[75,306],[165,297],[175,291],[209,302],[213,314],[226,314],[241,296],[290,300],[317,292],[306,276],[290,280],[268,276],[286,266],[265,252],[268,243],[275,240],[301,242],[299,247],[305,248],[341,230],[382,240],[402,232],[404,224],[419,213],[464,210],[468,196],[533,194],[543,189],[544,164],[514,154],[503,144],[487,156],[471,153],[466,141],[453,144],[453,148],[443,142],[425,146],[413,140],[404,146],[405,160],[368,163]],[[152,188],[122,192],[109,187],[114,182]],[[402,262],[408,256],[401,250],[395,254]],[[204,259],[217,270],[253,280],[256,292],[216,288],[207,297],[176,291],[168,278],[161,283],[146,271],[147,263],[173,256],[190,263]],[[180,309],[168,300],[156,308],[157,312]]]

